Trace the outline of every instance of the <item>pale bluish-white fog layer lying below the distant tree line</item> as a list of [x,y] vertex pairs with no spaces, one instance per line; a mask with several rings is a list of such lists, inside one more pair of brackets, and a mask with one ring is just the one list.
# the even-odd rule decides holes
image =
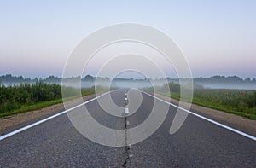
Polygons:
[[[56,80],[47,81],[44,80],[44,83],[47,84],[61,84],[61,78]],[[80,84],[78,84],[81,82]],[[168,82],[173,82],[175,84],[180,84],[179,79],[171,79],[168,78]],[[183,79],[181,80],[181,84],[186,84],[188,80]],[[36,84],[34,80],[26,81],[14,81],[14,82],[5,82],[2,81],[0,84],[5,86],[15,86],[19,84]],[[65,82],[65,86],[72,86],[72,87],[81,87],[81,88],[91,88],[94,85],[100,85],[105,88],[137,88],[143,89],[152,86],[162,86],[167,83],[167,80],[164,79],[154,79],[149,80],[146,78],[113,78],[110,80],[109,78],[90,78],[90,79],[82,79],[80,78],[71,78]],[[256,81],[253,80],[246,80],[241,78],[195,78],[194,79],[194,88],[195,89],[230,89],[230,90],[256,90]]]

